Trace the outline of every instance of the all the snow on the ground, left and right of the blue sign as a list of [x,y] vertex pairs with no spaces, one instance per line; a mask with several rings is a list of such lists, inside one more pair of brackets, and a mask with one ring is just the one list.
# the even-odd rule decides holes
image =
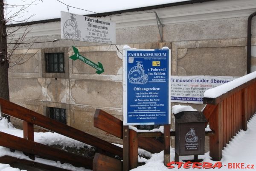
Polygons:
[[[232,139],[232,141],[227,145],[227,147],[224,147],[224,150],[222,151],[222,167],[220,168],[221,171],[230,171],[230,170],[236,170],[236,169],[230,169],[228,168],[228,163],[244,163],[244,166],[246,167],[249,165],[256,165],[256,115],[253,116],[253,118],[250,119],[247,125],[248,129],[247,131],[240,130],[240,132]],[[0,120],[0,131],[6,132],[15,136],[23,137],[23,131],[20,129],[15,129],[11,124],[7,124],[6,119]],[[68,137],[64,137],[62,135],[52,133],[52,132],[46,132],[46,133],[36,133],[35,132],[35,141],[43,144],[61,144],[63,146],[70,146],[75,147],[77,146],[87,146],[84,143],[80,143],[76,140],[70,139]],[[118,145],[121,146],[121,145]],[[26,159],[30,160],[27,156],[25,156],[20,151],[15,151],[15,153],[10,152],[9,149],[0,147],[0,156],[3,155],[10,155],[13,157],[17,157],[20,159]],[[163,151],[156,154],[150,154],[148,151],[139,149],[139,154],[143,154],[147,157],[151,157],[150,159],[145,159],[143,157],[139,157],[139,162],[145,162],[146,164],[140,167],[137,167],[133,169],[132,171],[168,171],[169,169],[163,165]],[[171,161],[174,160],[175,157],[175,149],[171,149]],[[203,162],[209,162],[214,165],[216,161],[212,161],[209,157],[209,152],[205,153],[204,155],[199,155],[199,159],[203,159]],[[180,156],[180,162],[182,160],[192,160],[193,156]],[[77,168],[70,164],[64,163],[61,164],[60,162],[50,161],[50,160],[44,160],[44,159],[35,159],[38,163],[44,163],[48,165],[53,165],[60,168],[66,168],[73,171],[88,171],[85,168]],[[226,166],[225,166],[226,165]],[[189,170],[193,169],[192,167],[189,169],[185,169],[183,167],[177,168],[177,165],[173,165],[175,168],[173,168],[173,171],[182,171],[182,170]],[[241,165],[240,165],[241,166]],[[194,168],[195,170],[197,168]],[[209,170],[209,169],[207,169]],[[211,169],[210,169],[211,170]],[[215,170],[218,170],[218,168],[215,168]],[[239,169],[237,169],[239,170]],[[242,170],[242,169],[240,169]],[[244,170],[244,169],[243,169]],[[254,169],[250,170],[256,170],[256,166],[254,166]],[[6,164],[0,164],[0,171],[20,171],[18,168],[11,168],[10,165]]]

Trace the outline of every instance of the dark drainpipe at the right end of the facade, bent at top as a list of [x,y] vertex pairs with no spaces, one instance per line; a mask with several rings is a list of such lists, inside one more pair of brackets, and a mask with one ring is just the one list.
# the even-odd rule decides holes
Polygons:
[[256,12],[250,14],[248,17],[248,27],[247,27],[247,74],[250,73],[251,67],[251,39],[252,39],[252,18],[256,15]]

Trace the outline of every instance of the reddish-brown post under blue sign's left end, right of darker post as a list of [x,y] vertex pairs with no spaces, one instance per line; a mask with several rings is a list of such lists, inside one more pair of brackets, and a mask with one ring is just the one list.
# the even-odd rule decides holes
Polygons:
[[138,165],[138,135],[137,132],[129,130],[129,169],[137,168]]

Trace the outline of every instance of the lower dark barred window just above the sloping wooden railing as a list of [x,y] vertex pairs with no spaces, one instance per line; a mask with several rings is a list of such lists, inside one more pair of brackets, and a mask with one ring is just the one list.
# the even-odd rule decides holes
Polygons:
[[67,124],[66,109],[47,107],[47,116],[56,121]]

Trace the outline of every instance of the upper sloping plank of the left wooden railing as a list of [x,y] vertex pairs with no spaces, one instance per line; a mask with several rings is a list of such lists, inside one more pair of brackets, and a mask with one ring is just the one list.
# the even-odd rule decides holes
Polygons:
[[3,98],[0,98],[0,104],[2,112],[6,115],[10,115],[12,117],[21,119],[28,123],[35,124],[37,126],[41,126],[50,131],[57,132],[61,135],[73,138],[80,142],[89,144],[91,146],[97,147],[99,149],[108,151],[122,157],[122,148],[113,145],[105,140],[101,140],[97,137],[94,137],[93,135],[67,126],[64,123],[55,121],[51,118],[48,118],[32,110],[26,109],[25,107],[21,107],[10,101],[6,101]]

